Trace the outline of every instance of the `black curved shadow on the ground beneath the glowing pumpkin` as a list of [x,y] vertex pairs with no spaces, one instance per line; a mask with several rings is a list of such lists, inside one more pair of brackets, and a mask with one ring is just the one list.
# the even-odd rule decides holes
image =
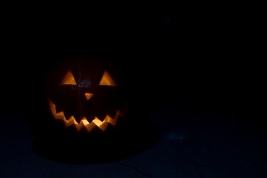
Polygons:
[[33,140],[33,150],[36,154],[56,162],[96,164],[139,154],[154,146],[160,138],[160,130],[152,123],[147,123],[108,134],[39,136]]

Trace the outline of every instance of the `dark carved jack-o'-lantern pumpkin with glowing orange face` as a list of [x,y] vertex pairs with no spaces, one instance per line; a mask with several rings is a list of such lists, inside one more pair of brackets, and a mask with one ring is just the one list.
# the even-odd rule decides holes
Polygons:
[[120,80],[105,63],[79,58],[53,71],[49,82],[50,111],[66,129],[105,131],[126,113]]

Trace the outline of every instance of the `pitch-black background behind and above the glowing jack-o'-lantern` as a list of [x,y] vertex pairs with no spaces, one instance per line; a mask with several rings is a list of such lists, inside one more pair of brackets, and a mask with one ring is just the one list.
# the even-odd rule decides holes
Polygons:
[[28,110],[62,58],[91,55],[115,61],[129,78],[133,98],[147,109],[238,114],[234,121],[199,119],[248,134],[264,131],[261,22],[251,9],[180,4],[95,13],[17,7],[3,16],[1,118]]

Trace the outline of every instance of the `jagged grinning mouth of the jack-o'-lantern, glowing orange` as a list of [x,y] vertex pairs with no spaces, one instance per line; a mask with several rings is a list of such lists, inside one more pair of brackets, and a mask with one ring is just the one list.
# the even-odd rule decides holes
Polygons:
[[74,125],[78,131],[80,131],[82,127],[85,127],[86,130],[88,132],[90,132],[96,126],[98,128],[100,128],[101,130],[105,131],[107,126],[108,126],[108,123],[112,124],[113,126],[115,126],[116,122],[118,120],[118,117],[120,117],[120,116],[123,117],[124,116],[122,111],[118,110],[116,112],[114,118],[112,118],[111,116],[107,115],[103,122],[100,121],[99,118],[95,117],[95,119],[91,123],[89,123],[86,120],[86,117],[83,117],[82,120],[80,121],[80,123],[77,123],[77,121],[75,120],[74,116],[71,116],[68,120],[66,120],[66,117],[65,117],[63,111],[56,113],[55,104],[50,99],[49,99],[49,106],[50,106],[50,110],[51,110],[51,112],[52,112],[52,114],[53,114],[55,119],[63,120],[65,125],[66,125],[66,127]]

